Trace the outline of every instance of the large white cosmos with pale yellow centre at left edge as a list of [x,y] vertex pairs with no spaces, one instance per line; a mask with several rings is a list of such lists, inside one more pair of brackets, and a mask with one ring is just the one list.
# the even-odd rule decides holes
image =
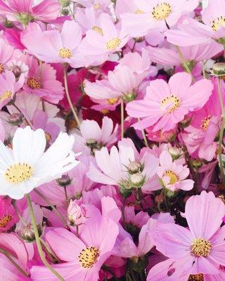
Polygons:
[[13,137],[13,150],[0,141],[0,195],[20,199],[34,188],[77,166],[72,152],[74,137],[60,133],[51,147],[46,148],[42,129],[19,128]]

